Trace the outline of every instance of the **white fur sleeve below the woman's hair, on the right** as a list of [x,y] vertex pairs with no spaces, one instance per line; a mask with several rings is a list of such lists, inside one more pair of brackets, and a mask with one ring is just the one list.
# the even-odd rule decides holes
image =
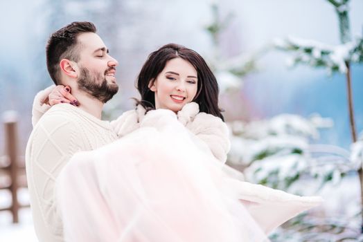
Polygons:
[[220,118],[208,113],[198,113],[186,123],[186,128],[208,145],[215,158],[226,162],[231,142],[227,124]]

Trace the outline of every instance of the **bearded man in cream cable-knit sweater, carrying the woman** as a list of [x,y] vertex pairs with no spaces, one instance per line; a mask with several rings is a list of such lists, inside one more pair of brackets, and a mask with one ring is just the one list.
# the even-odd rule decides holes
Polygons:
[[26,147],[35,232],[40,242],[55,242],[63,241],[55,203],[58,174],[77,151],[96,149],[117,138],[109,122],[100,118],[103,105],[118,91],[118,62],[108,54],[94,24],[73,22],[49,38],[46,64],[53,82],[70,86],[79,101],[74,100],[74,106],[52,106],[35,125]]

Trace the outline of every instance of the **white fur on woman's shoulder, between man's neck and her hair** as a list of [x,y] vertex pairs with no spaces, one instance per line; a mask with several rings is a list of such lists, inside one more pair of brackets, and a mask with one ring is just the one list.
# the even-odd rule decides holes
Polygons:
[[145,109],[139,105],[134,110],[126,111],[116,120],[111,121],[111,126],[117,133],[118,138],[121,138],[127,133],[131,133],[135,129],[139,129],[140,121],[145,116]]

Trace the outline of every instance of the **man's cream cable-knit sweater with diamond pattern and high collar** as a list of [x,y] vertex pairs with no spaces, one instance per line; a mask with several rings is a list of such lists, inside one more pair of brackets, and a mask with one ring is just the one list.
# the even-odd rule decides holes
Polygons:
[[57,104],[40,118],[26,148],[26,173],[39,241],[63,241],[54,198],[55,180],[77,151],[116,140],[112,126],[69,104]]

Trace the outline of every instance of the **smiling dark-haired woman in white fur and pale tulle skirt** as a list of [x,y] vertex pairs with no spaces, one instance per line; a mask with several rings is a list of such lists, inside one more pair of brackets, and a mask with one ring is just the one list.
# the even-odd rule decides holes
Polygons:
[[137,108],[112,122],[121,139],[77,153],[57,180],[68,241],[264,241],[321,202],[221,169],[229,140],[218,84],[193,50],[154,51],[137,87]]

